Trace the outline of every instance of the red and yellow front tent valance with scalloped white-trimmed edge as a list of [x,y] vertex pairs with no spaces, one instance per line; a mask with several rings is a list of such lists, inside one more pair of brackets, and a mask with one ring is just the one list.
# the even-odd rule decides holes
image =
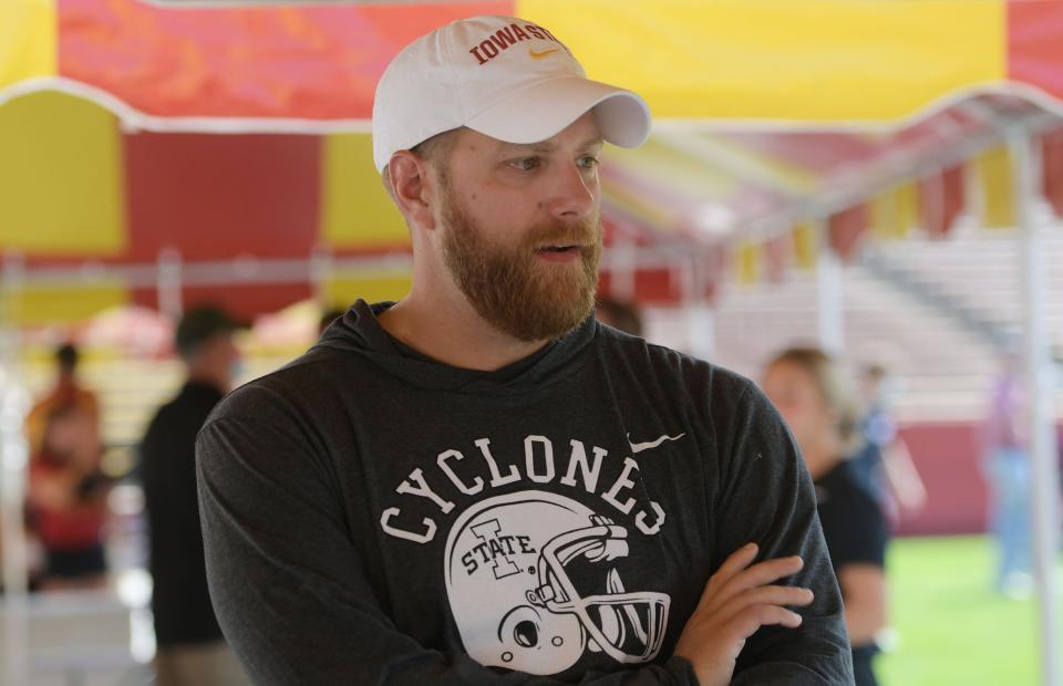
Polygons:
[[549,27],[658,117],[884,122],[1007,82],[1063,97],[1060,0],[6,0],[0,90],[59,75],[153,117],[367,119],[403,45],[479,13]]

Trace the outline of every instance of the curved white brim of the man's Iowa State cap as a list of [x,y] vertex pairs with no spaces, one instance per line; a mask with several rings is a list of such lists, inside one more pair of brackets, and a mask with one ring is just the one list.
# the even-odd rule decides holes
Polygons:
[[579,76],[558,76],[509,94],[465,123],[506,143],[538,143],[594,110],[601,137],[638,147],[650,135],[650,108],[639,95]]

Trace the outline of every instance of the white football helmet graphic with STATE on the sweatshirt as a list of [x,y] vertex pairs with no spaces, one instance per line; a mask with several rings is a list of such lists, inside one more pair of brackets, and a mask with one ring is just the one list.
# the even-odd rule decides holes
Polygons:
[[625,590],[610,563],[627,554],[623,527],[569,498],[524,491],[476,503],[446,541],[447,600],[465,651],[537,675],[568,669],[585,651],[653,659],[671,599]]

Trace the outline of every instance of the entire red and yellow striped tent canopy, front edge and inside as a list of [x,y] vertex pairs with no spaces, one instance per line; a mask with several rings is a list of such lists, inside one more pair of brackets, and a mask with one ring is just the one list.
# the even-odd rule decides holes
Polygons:
[[372,90],[413,37],[482,12],[550,27],[647,96],[656,134],[608,152],[603,187],[613,238],[654,264],[694,246],[718,269],[721,247],[808,217],[854,233],[849,208],[1063,112],[1060,0],[12,0],[0,249],[31,268],[405,250],[370,163]]

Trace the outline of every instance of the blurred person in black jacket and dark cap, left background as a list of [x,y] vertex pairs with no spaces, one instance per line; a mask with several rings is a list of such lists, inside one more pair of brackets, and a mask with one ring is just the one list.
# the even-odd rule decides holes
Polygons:
[[235,330],[215,306],[185,314],[175,336],[185,383],[158,409],[141,444],[161,686],[246,683],[210,606],[196,501],[196,434],[233,386],[240,358]]

